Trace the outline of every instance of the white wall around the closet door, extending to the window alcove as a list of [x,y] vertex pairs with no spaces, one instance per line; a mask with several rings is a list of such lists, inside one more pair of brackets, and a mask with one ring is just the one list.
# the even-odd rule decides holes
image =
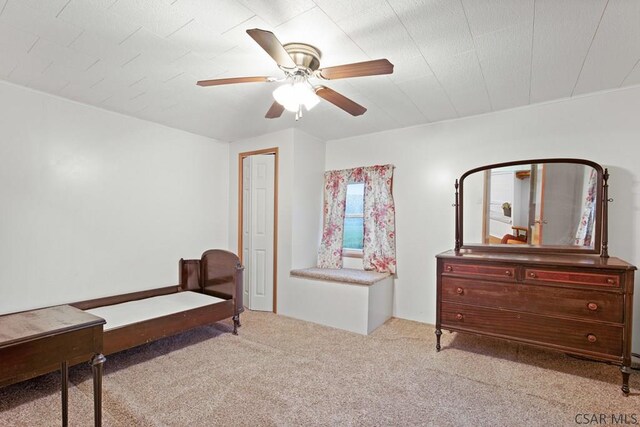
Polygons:
[[324,142],[297,129],[235,141],[229,146],[229,247],[238,250],[238,155],[278,147],[277,311],[290,315],[306,299],[289,271],[315,266],[322,218]]

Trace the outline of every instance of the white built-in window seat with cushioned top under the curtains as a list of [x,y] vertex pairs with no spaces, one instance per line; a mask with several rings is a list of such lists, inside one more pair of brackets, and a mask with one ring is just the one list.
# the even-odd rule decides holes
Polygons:
[[393,276],[353,268],[291,270],[291,316],[367,335],[393,313]]

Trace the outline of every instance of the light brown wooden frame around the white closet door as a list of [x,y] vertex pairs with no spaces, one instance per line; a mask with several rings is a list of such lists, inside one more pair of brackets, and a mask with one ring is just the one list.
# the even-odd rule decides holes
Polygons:
[[259,154],[273,154],[273,312],[278,312],[278,147],[264,148],[262,150],[246,151],[238,154],[238,256],[243,262],[242,251],[242,212],[243,195],[242,184],[244,182],[244,168],[242,161]]

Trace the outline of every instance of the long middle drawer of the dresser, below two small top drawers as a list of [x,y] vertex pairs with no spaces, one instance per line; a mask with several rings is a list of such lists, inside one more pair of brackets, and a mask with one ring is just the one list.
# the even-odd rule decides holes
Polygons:
[[442,300],[490,308],[623,322],[623,295],[550,286],[442,278]]

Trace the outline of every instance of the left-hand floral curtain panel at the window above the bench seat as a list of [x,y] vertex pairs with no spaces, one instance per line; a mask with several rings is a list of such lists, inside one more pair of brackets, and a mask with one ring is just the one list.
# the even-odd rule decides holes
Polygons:
[[329,171],[324,174],[324,220],[322,242],[318,250],[318,267],[342,268],[342,236],[347,183],[351,169]]

